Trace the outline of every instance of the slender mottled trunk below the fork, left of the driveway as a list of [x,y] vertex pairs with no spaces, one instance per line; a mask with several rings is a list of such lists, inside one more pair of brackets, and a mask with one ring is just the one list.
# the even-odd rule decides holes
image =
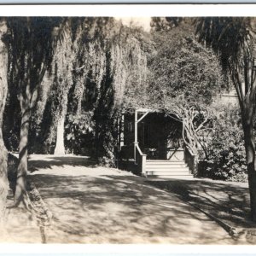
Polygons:
[[15,206],[23,202],[27,207],[26,201],[26,174],[27,174],[27,145],[30,120],[30,104],[28,101],[20,102],[21,106],[21,125],[20,125],[20,144],[19,144],[19,165],[17,169],[17,181],[15,188]]

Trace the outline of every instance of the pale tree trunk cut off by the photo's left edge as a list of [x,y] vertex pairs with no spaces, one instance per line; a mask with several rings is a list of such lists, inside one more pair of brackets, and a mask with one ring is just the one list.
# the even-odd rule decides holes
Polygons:
[[[7,32],[5,21],[0,23],[0,38]],[[6,195],[8,191],[7,179],[7,150],[3,143],[3,111],[7,96],[7,66],[8,50],[6,45],[0,40],[0,219],[6,205]]]

